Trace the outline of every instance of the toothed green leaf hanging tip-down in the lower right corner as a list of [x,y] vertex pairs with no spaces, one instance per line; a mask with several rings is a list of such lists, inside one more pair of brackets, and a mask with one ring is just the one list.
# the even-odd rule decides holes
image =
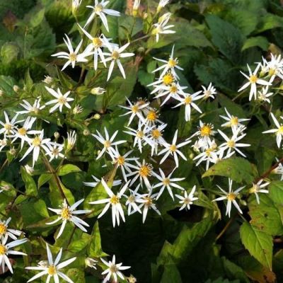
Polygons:
[[248,222],[242,224],[240,236],[250,255],[272,270],[272,236],[258,230]]

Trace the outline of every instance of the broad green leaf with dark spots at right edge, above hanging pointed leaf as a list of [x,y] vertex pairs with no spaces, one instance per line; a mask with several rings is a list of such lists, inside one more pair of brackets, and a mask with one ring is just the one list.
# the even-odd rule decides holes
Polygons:
[[272,202],[268,195],[259,193],[259,197],[260,204],[258,204],[254,195],[248,204],[248,214],[251,217],[250,224],[272,236],[282,235],[282,219],[275,203]]

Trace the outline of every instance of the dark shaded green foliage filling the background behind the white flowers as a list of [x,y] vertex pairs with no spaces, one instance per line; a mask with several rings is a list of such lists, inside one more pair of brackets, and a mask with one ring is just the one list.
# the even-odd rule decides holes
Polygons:
[[[22,98],[28,96],[27,93],[44,96],[41,81],[46,74],[58,78],[62,86],[68,89],[74,88],[76,81],[79,81],[81,73],[79,67],[74,70],[68,69],[62,74],[55,67],[55,64],[60,62],[50,58],[56,48],[62,46],[64,33],[71,34],[73,41],[79,42],[70,2],[69,0],[0,2],[0,88],[6,95],[6,98],[1,98],[3,107],[15,109],[18,107],[18,100],[13,100],[16,96],[14,85],[21,88],[25,86],[25,94]],[[150,4],[151,1],[148,2]],[[126,1],[113,0],[111,7],[118,11],[126,11]],[[57,117],[54,117],[52,125],[45,127],[46,135],[51,136],[55,131],[64,134],[69,128],[81,132],[83,129],[95,132],[96,129],[102,129],[104,126],[122,129],[121,125],[125,125],[126,118],[119,117],[122,110],[117,108],[117,104],[125,102],[125,93],[132,100],[139,96],[150,97],[150,90],[146,85],[154,81],[154,74],[151,74],[151,71],[155,69],[156,62],[153,62],[152,57],[166,57],[175,44],[175,54],[180,66],[184,68],[180,76],[180,84],[189,86],[190,90],[198,90],[202,84],[213,82],[219,91],[216,100],[204,106],[204,112],[208,113],[204,117],[204,122],[213,122],[215,127],[219,127],[221,125],[219,114],[223,113],[224,107],[233,110],[234,115],[252,119],[246,141],[252,145],[247,151],[248,160],[253,166],[248,161],[245,163],[238,158],[229,164],[233,167],[232,173],[226,174],[228,165],[223,163],[220,165],[223,167],[218,168],[219,174],[207,171],[205,174],[208,178],[201,178],[200,173],[204,173],[204,169],[196,168],[189,159],[187,162],[181,161],[178,175],[186,177],[187,187],[195,184],[200,187],[212,187],[212,177],[209,177],[212,175],[226,175],[238,183],[251,183],[257,175],[261,175],[272,166],[275,156],[281,157],[282,151],[277,149],[272,137],[260,136],[259,139],[259,133],[267,128],[266,110],[249,103],[246,96],[241,96],[235,102],[232,99],[236,97],[238,87],[243,83],[243,76],[239,71],[246,70],[246,64],[260,62],[261,57],[269,57],[270,52],[280,54],[283,47],[282,3],[277,0],[184,0],[171,1],[168,10],[174,15],[176,33],[161,37],[158,43],[154,39],[149,39],[131,45],[135,52],[138,48],[141,48],[138,52],[143,52],[146,48],[150,48],[151,52],[144,57],[138,71],[131,65],[127,66],[126,74],[132,74],[127,81],[115,78],[106,86],[105,76],[93,80],[94,72],[90,70],[84,78],[83,85],[76,88],[81,96],[80,104],[84,108],[80,119],[86,120],[96,112],[100,112],[103,119],[90,120],[88,125],[69,120],[65,121],[64,127],[61,127],[60,121],[58,122]],[[86,18],[86,12],[81,11],[78,18]],[[114,40],[117,38],[127,40],[127,33],[132,25],[131,17],[126,15],[109,18],[109,24],[110,37]],[[134,34],[141,33],[142,28],[142,21],[138,19]],[[105,71],[101,70],[102,74],[103,72]],[[86,93],[96,86],[106,86],[108,91],[105,96],[109,98],[107,101],[101,97],[86,96]],[[277,96],[273,101],[273,108],[280,109],[281,106],[282,96]],[[52,120],[52,117],[50,119]],[[195,127],[192,122],[184,121],[182,110],[172,110],[170,105],[161,112],[161,120],[168,123],[169,129],[175,129],[177,125],[181,137],[188,137]],[[166,132],[166,139],[171,139],[173,132],[175,130]],[[93,172],[96,173],[95,175],[103,176],[109,171],[109,168],[101,167],[105,161],[96,161],[93,156],[95,149],[91,139],[82,134],[79,136],[77,144],[79,153],[69,158],[79,169],[70,169],[70,171],[68,169],[67,174],[62,175],[62,183],[72,188],[76,199],[85,197],[91,192],[91,188],[83,187],[82,182],[90,180]],[[129,139],[122,133],[120,137]],[[188,150],[186,156],[190,154],[192,151]],[[1,163],[4,163],[6,159],[4,152],[1,153],[0,159]],[[40,226],[40,223],[46,222],[45,219],[49,217],[46,207],[50,207],[55,201],[48,197],[49,187],[45,176],[40,175],[40,177],[36,176],[35,180],[30,179],[23,170],[21,171],[21,164],[12,159],[11,157],[9,166],[1,171],[1,180],[17,188],[25,186],[26,190],[30,190],[31,195],[35,194],[37,187],[40,187],[37,199],[18,197],[16,209],[10,211],[16,223],[28,231],[30,238],[38,246],[37,250],[33,250],[37,256],[42,252],[42,248],[37,243],[37,236],[49,236],[52,231],[52,227]],[[18,178],[19,172],[22,178]],[[225,184],[226,178],[223,179],[216,176],[214,183]],[[0,209],[3,211],[7,209],[9,202],[14,200],[15,192],[9,193],[11,195],[8,197],[0,195]],[[254,226],[248,224],[241,226],[240,221],[233,221],[219,240],[216,236],[229,219],[224,217],[216,223],[212,214],[212,211],[216,214],[213,204],[199,204],[200,206],[193,206],[188,212],[178,212],[176,204],[161,197],[162,218],[150,214],[146,223],[141,224],[139,215],[134,215],[127,219],[126,224],[113,229],[110,215],[107,215],[100,219],[99,229],[92,236],[81,238],[81,231],[76,231],[69,251],[76,253],[85,249],[88,243],[95,241],[93,255],[103,255],[103,252],[117,255],[125,265],[132,266],[132,274],[139,282],[144,283],[275,282],[275,277],[277,282],[283,282],[282,194],[282,182],[272,183],[270,195],[262,196],[260,205],[256,205],[255,200],[248,203],[249,212],[245,212],[245,217],[251,219]],[[202,200],[206,200],[204,194],[202,197],[200,197]],[[31,207],[34,209],[33,214],[30,214]],[[207,217],[203,217],[205,213]],[[93,219],[91,221],[94,225],[95,221]],[[38,225],[33,226],[34,224]],[[253,227],[257,227],[260,231]],[[99,235],[99,231],[100,237],[93,240],[97,233]],[[63,238],[68,238],[70,234],[71,227],[64,232]],[[243,236],[245,234],[252,235],[252,238],[245,238]],[[256,241],[260,237],[267,239],[261,247],[266,249],[264,255],[256,246]],[[99,250],[100,238],[101,250]],[[50,241],[54,241],[51,236]],[[262,242],[259,242],[261,245]],[[254,243],[253,250],[250,246]],[[54,245],[59,247],[66,243],[60,239]],[[27,245],[26,249],[31,248]],[[273,266],[271,267],[272,250]],[[21,267],[23,262],[17,264]],[[15,282],[21,282],[23,276],[21,272],[21,268],[16,268],[13,275]],[[0,282],[8,282],[8,279],[1,278]],[[91,275],[86,275],[85,279],[78,279],[76,282],[99,281],[93,279]]]

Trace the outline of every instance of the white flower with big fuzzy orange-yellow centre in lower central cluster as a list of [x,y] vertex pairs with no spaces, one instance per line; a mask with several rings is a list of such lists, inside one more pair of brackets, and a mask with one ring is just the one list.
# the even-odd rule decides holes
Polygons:
[[151,184],[149,183],[149,177],[152,175],[152,165],[150,163],[146,163],[145,160],[143,160],[142,163],[140,163],[139,161],[136,161],[136,163],[136,171],[133,171],[132,173],[129,173],[127,175],[127,177],[134,176],[134,178],[132,178],[130,186],[132,186],[134,182],[139,178],[139,182],[141,183],[141,185],[144,182],[148,190],[150,190]]

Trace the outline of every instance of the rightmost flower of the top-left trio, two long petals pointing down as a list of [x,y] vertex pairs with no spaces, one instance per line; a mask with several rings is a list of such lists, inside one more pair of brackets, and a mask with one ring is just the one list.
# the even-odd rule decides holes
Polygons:
[[108,70],[107,81],[110,79],[115,63],[117,63],[117,66],[120,69],[120,72],[123,78],[126,79],[125,71],[124,71],[124,68],[122,66],[120,59],[134,56],[134,53],[122,53],[129,46],[129,42],[123,45],[122,47],[110,45],[109,42],[105,42],[105,44],[110,52],[110,53],[104,52],[104,55],[109,56],[107,59],[105,59],[105,62],[111,61],[109,70]]

